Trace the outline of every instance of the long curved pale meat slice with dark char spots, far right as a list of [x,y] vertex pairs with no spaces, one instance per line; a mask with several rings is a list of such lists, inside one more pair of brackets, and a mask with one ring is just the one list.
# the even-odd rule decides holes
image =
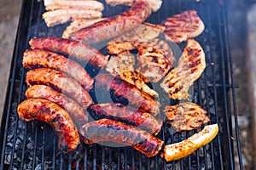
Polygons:
[[189,87],[206,68],[205,54],[201,45],[193,39],[188,44],[173,69],[160,84],[172,99],[189,99]]

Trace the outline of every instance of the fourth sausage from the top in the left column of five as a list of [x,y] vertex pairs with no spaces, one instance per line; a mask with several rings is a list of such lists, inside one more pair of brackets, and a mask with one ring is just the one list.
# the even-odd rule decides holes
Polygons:
[[68,98],[65,94],[55,91],[53,88],[45,85],[34,85],[26,90],[27,99],[47,99],[60,105],[69,116],[72,117],[73,122],[77,127],[81,127],[88,122],[89,113],[73,99]]

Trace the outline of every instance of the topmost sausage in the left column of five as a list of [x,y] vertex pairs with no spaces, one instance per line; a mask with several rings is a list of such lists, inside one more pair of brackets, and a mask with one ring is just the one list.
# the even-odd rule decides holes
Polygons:
[[69,39],[56,38],[56,37],[43,37],[33,38],[29,44],[32,49],[44,49],[55,53],[66,54],[68,57],[79,59],[84,64],[89,64],[96,70],[101,69],[107,65],[109,56],[103,55],[96,48],[72,41]]

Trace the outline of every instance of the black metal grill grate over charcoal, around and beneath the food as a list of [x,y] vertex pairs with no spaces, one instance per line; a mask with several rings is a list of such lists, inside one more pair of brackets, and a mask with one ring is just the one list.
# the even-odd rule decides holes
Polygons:
[[[103,15],[119,14],[127,8],[105,5]],[[204,48],[207,68],[191,88],[193,95],[190,99],[207,110],[210,124],[218,123],[220,127],[218,136],[210,144],[186,158],[171,162],[160,156],[147,158],[131,147],[80,144],[77,150],[67,154],[58,150],[52,128],[44,122],[20,120],[16,108],[26,99],[26,69],[22,66],[22,55],[29,48],[28,41],[32,37],[61,37],[67,25],[48,28],[42,19],[44,1],[23,0],[1,124],[0,169],[237,169],[234,150],[238,152],[242,169],[236,117],[238,86],[233,80],[225,2],[163,0],[160,11],[147,21],[160,24],[167,17],[188,9],[195,9],[206,26],[201,36],[195,39]],[[232,134],[231,116],[235,116],[236,134]],[[174,133],[172,127],[165,123],[162,128],[158,137],[165,144],[187,139],[201,130]],[[233,147],[234,140],[237,148]]]

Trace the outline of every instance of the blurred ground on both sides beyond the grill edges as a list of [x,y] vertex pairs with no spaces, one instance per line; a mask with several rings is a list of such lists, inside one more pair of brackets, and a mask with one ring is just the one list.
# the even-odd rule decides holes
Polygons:
[[[19,0],[0,0],[0,120],[3,112],[5,89],[9,77],[10,60],[15,44],[20,4],[21,1]],[[254,100],[250,98],[253,96],[254,88],[252,78],[249,77],[249,75],[253,75],[253,64],[247,66],[247,63],[251,62],[249,56],[253,56],[253,54],[250,51],[251,49],[247,47],[247,37],[250,37],[254,33],[254,28],[256,32],[256,24],[255,27],[251,26],[252,23],[249,23],[248,26],[248,15],[256,20],[256,5],[253,1],[230,0],[228,5],[230,51],[234,62],[235,82],[240,86],[236,90],[236,105],[241,135],[242,159],[245,169],[255,169],[253,162],[256,162],[256,160],[253,161],[255,155],[253,156],[252,151],[252,133],[256,132],[256,130],[253,130],[253,119],[255,118],[253,116]],[[251,29],[247,31],[248,28]],[[251,46],[253,47],[254,44],[256,48],[256,41],[253,44],[251,43]],[[251,90],[248,91],[248,89]]]

